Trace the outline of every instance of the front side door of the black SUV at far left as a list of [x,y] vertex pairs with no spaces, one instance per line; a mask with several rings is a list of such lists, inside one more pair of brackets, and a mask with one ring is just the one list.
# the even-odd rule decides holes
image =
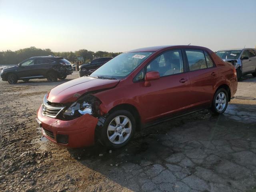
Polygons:
[[34,76],[33,69],[34,69],[34,59],[27,59],[23,61],[18,67],[18,72],[17,72],[18,78],[22,79],[22,78]]

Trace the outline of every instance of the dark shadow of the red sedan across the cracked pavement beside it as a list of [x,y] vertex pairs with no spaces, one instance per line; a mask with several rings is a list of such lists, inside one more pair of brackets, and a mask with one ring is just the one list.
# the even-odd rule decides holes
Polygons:
[[[236,107],[248,108],[231,104],[228,110]],[[197,183],[200,187],[195,188],[203,191],[217,181],[223,185],[219,191],[225,187],[239,191],[256,181],[255,143],[255,122],[232,120],[229,114],[212,116],[204,110],[144,129],[121,149],[96,144],[68,151],[83,166],[134,191],[172,191],[178,182],[188,186],[184,190]],[[248,179],[249,175],[254,176]]]

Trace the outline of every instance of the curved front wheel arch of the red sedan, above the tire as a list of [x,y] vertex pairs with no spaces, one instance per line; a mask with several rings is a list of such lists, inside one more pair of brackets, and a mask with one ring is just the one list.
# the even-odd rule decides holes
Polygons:
[[140,131],[140,129],[141,129],[141,117],[140,117],[140,114],[139,114],[137,108],[134,105],[132,105],[132,104],[118,104],[118,105],[114,106],[113,108],[111,108],[108,111],[108,114],[111,114],[112,112],[114,112],[116,110],[127,110],[127,111],[129,111],[135,118],[136,131]]

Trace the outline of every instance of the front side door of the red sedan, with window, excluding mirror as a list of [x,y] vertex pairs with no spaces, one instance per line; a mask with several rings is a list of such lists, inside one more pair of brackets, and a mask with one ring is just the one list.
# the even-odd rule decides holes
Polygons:
[[[158,71],[160,74],[160,79],[151,81],[149,87],[145,87],[144,82],[137,84],[140,90],[137,99],[144,106],[147,122],[188,108],[190,80],[188,73],[184,73],[183,64],[182,51],[178,49],[158,55],[146,66],[146,72]],[[139,73],[137,76],[144,75]]]

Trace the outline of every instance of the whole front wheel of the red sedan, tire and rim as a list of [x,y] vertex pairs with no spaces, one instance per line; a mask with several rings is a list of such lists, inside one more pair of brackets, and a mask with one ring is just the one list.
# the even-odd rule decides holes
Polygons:
[[110,148],[121,148],[133,138],[136,130],[134,116],[126,110],[117,110],[105,120],[100,141]]

